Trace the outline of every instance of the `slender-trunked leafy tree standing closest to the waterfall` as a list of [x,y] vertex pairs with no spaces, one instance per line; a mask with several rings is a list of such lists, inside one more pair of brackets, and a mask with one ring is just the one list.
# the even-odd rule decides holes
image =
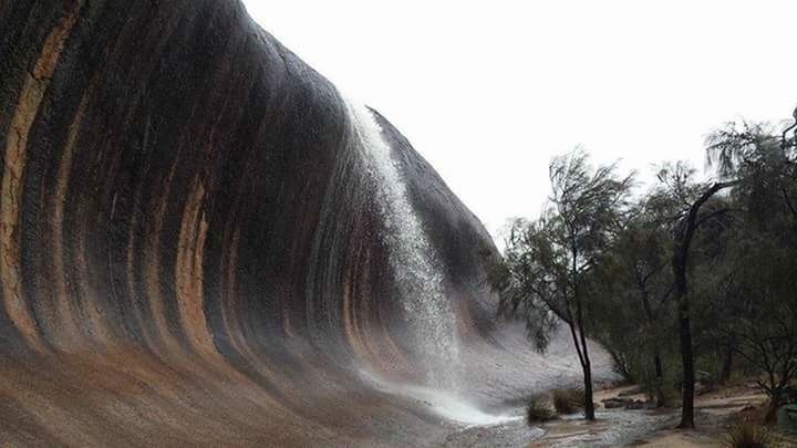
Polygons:
[[568,325],[583,372],[584,416],[593,420],[588,278],[610,250],[633,176],[619,177],[615,165],[593,169],[576,149],[551,160],[549,177],[549,207],[538,220],[515,221],[488,280],[499,312],[524,317],[538,350],[559,321]]

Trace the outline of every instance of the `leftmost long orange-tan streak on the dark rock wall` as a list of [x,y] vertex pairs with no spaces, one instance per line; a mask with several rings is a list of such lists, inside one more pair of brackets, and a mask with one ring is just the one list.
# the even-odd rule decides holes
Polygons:
[[28,160],[28,136],[82,6],[82,0],[74,2],[70,13],[59,21],[44,41],[33,72],[25,74],[3,153],[6,163],[0,186],[0,279],[2,279],[6,311],[30,346],[40,352],[43,351],[44,345],[24,302],[20,271],[22,265],[19,239],[22,211],[21,187]]

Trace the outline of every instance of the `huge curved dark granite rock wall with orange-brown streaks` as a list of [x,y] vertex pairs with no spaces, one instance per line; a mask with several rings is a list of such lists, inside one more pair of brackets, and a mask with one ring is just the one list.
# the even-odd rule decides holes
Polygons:
[[429,363],[363,115],[455,310],[458,387],[488,406],[578,372],[495,329],[478,220],[237,1],[0,0],[0,441],[444,434],[368,379],[422,384]]

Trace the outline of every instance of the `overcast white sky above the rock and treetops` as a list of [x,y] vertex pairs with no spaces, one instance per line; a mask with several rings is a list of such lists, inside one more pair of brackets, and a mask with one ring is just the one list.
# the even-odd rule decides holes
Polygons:
[[703,167],[703,139],[797,105],[797,1],[262,1],[250,14],[379,110],[498,235],[551,156]]

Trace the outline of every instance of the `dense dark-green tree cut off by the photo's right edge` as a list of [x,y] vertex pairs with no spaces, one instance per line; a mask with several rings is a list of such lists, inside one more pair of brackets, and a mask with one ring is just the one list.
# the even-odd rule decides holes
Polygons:
[[[797,121],[797,111],[795,111]],[[729,124],[710,137],[708,156],[721,176],[738,179],[733,199],[739,226],[725,257],[725,295],[716,329],[737,341],[744,360],[764,373],[769,396],[766,420],[775,418],[797,378],[797,144],[765,124]]]

